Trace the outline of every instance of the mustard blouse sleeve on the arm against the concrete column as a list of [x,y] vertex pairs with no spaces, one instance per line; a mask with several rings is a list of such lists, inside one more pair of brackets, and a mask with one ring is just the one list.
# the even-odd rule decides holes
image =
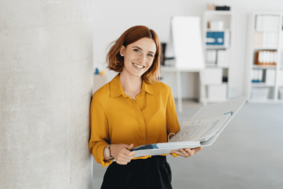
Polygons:
[[97,92],[94,93],[90,106],[90,132],[90,153],[94,155],[96,162],[100,163],[102,167],[110,165],[111,160],[105,161],[103,155],[104,148],[110,143],[108,120]]

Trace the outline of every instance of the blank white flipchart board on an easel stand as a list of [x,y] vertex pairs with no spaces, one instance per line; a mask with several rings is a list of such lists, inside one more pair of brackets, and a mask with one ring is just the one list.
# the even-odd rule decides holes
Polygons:
[[171,20],[171,36],[177,69],[205,68],[201,18],[174,16]]

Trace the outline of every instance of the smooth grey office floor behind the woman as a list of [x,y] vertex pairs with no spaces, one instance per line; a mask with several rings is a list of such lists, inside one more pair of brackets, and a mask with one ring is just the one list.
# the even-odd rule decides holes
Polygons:
[[[181,123],[199,104],[183,102]],[[245,104],[212,146],[191,158],[167,155],[173,188],[283,188],[283,104]],[[106,168],[94,160],[94,188]]]

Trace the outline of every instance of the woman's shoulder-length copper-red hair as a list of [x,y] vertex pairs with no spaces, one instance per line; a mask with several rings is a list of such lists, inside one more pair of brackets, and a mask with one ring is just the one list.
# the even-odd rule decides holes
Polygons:
[[152,66],[145,73],[143,73],[142,79],[145,83],[157,83],[157,80],[160,79],[160,62],[161,62],[161,43],[157,36],[157,33],[153,29],[149,29],[145,26],[134,26],[126,31],[124,34],[120,36],[117,41],[113,41],[110,43],[111,48],[106,57],[106,62],[108,64],[108,69],[121,72],[124,68],[124,57],[122,57],[119,53],[122,45],[126,47],[131,43],[135,43],[140,40],[140,38],[152,38],[157,46],[157,52],[155,52],[154,60],[152,62]]

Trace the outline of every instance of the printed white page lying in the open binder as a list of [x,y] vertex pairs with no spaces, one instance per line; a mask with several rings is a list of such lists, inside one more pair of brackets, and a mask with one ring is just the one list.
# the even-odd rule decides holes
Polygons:
[[183,122],[180,125],[180,131],[171,137],[169,141],[205,141],[219,130],[222,130],[222,126],[230,117],[231,113],[228,113],[215,118]]

